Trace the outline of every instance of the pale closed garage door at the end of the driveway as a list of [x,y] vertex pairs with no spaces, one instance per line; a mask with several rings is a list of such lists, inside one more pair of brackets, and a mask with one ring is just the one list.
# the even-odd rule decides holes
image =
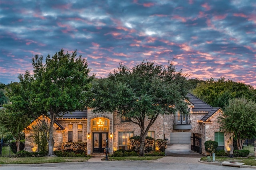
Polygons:
[[171,144],[190,144],[190,132],[174,132],[171,133]]

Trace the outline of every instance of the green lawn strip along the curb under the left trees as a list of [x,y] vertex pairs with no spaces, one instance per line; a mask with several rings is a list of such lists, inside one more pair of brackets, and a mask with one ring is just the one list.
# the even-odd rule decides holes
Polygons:
[[71,158],[45,156],[38,158],[0,158],[0,164],[43,164],[43,163],[60,163],[60,162],[87,162],[90,157]]

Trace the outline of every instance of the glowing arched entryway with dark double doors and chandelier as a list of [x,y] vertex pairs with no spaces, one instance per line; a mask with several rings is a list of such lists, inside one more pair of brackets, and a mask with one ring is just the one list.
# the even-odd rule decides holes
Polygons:
[[92,152],[103,153],[108,140],[109,119],[97,117],[91,121]]

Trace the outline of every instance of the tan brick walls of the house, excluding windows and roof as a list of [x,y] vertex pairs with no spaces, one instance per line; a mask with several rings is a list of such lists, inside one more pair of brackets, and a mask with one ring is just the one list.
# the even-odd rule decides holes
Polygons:
[[[152,127],[150,127],[148,135],[151,135],[154,139],[166,139],[168,144],[171,143],[171,133],[174,132],[186,132],[190,133],[190,136],[196,136],[201,138],[201,147],[202,154],[206,154],[204,149],[204,142],[208,140],[214,141],[214,135],[216,132],[220,131],[220,124],[218,123],[218,117],[222,114],[220,109],[216,111],[207,118],[207,120],[202,121],[206,116],[206,112],[193,112],[194,105],[190,105],[190,116],[189,122],[191,129],[174,129],[174,115],[165,114],[159,115]],[[104,121],[106,127],[98,128],[95,123],[99,121]],[[150,119],[146,117],[145,127],[148,125]],[[121,116],[118,113],[93,113],[92,109],[87,109],[87,118],[85,119],[57,119],[57,124],[54,124],[54,150],[62,150],[62,143],[68,142],[68,132],[72,131],[72,141],[78,141],[78,131],[82,132],[82,141],[87,142],[87,151],[88,154],[93,152],[103,152],[102,150],[95,150],[96,143],[100,139],[96,139],[97,135],[107,135],[108,139],[108,148],[110,153],[118,150],[120,148],[126,148],[129,145],[128,138],[129,136],[139,136],[140,127],[135,123],[130,121],[122,121]],[[61,125],[64,129],[60,130]],[[70,129],[72,125],[72,129]],[[25,130],[25,150],[34,152],[37,151],[37,147],[34,144],[34,131],[33,124],[28,126],[30,130]],[[81,134],[81,133],[80,133]],[[89,135],[89,136],[88,136]],[[230,134],[225,134],[224,136],[224,149],[230,150],[232,147],[232,140],[230,140]],[[105,136],[102,136],[102,147],[103,142],[106,140],[103,139]],[[95,138],[95,139],[94,139]]]

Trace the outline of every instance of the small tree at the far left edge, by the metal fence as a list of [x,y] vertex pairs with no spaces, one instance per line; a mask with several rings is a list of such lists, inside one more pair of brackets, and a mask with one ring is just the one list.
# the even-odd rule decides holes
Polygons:
[[6,108],[0,110],[0,125],[14,137],[17,152],[20,150],[20,139],[23,129],[29,123],[30,119],[21,112],[14,113]]

